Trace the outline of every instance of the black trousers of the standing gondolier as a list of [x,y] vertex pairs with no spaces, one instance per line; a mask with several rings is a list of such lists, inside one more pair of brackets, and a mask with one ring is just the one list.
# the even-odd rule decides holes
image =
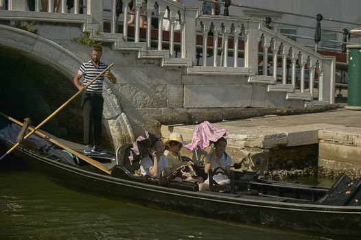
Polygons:
[[[104,99],[102,94],[82,93],[84,120],[84,144],[102,145],[102,115]],[[94,125],[94,139],[92,129]]]

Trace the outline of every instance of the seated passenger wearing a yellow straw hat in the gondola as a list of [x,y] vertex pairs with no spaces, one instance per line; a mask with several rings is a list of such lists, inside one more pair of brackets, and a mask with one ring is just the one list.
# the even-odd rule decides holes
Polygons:
[[[174,173],[177,169],[179,170],[174,173],[173,180],[179,182],[182,180],[198,180],[198,182],[203,182],[203,178],[198,178],[195,171],[191,171],[192,169],[190,169],[189,163],[182,160],[180,149],[182,149],[184,144],[183,136],[178,132],[170,134],[170,139],[165,142],[165,145],[168,145],[169,149],[165,150],[164,155],[167,157],[170,171]],[[179,169],[182,166],[184,166],[183,169]]]

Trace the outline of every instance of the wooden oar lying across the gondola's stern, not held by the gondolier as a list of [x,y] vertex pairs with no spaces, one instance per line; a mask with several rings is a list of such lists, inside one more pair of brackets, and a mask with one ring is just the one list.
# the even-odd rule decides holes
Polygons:
[[[8,115],[5,115],[5,113],[3,113],[3,112],[0,112],[0,115],[3,115],[3,117],[9,119],[10,121],[13,121],[16,124],[23,126],[23,123],[21,123],[21,121],[17,121],[16,119],[13,119],[12,117],[10,117]],[[31,128],[31,127],[29,127],[29,129],[32,130],[32,131],[34,130],[34,128]],[[54,143],[55,145],[58,145],[59,147],[61,147],[62,149],[67,150],[68,152],[71,152],[71,154],[74,154],[78,158],[81,158],[82,160],[86,161],[86,163],[89,163],[89,164],[93,165],[94,167],[96,167],[97,169],[100,169],[100,170],[102,170],[105,173],[108,173],[110,175],[110,171],[108,169],[106,169],[103,165],[98,163],[96,160],[93,160],[92,158],[89,158],[88,156],[80,154],[80,152],[76,152],[75,150],[71,149],[70,147],[67,147],[67,146],[63,145],[62,143],[59,143],[55,139],[51,139],[50,136],[47,136],[46,134],[43,134],[43,132],[39,132],[37,130],[34,130],[34,132],[38,136],[41,136],[44,139],[47,139],[47,141],[49,141],[51,143]]]

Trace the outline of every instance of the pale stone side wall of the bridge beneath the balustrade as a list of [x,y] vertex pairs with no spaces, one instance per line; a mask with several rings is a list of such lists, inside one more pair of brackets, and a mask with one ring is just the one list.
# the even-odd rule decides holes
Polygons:
[[[33,27],[38,34],[3,25],[0,44],[53,64],[69,78],[73,89],[80,63],[90,59],[90,47],[73,40],[83,36],[82,24],[37,22]],[[222,68],[217,74],[194,73],[186,71],[187,67],[161,66],[156,57],[140,58],[139,51],[113,50],[113,43],[103,45],[102,60],[115,64],[111,71],[118,78],[115,85],[104,84],[104,126],[114,147],[130,143],[144,130],[160,135],[153,116],[163,113],[303,105],[302,99],[290,101],[286,93],[267,93],[266,84],[248,82],[242,68],[231,74]]]

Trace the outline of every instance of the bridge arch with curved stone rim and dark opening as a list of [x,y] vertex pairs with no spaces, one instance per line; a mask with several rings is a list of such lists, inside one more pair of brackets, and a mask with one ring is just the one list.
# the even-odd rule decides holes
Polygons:
[[[73,75],[84,60],[58,43],[23,29],[0,25],[0,32],[0,54],[4,60],[0,67],[0,93],[1,101],[8,103],[1,110],[18,118],[34,115],[34,124],[40,123],[76,93]],[[105,86],[105,89],[104,140],[117,147],[131,142],[134,134],[111,88]],[[81,142],[80,97],[66,108],[44,130],[60,136],[71,132],[77,135],[71,139]]]

